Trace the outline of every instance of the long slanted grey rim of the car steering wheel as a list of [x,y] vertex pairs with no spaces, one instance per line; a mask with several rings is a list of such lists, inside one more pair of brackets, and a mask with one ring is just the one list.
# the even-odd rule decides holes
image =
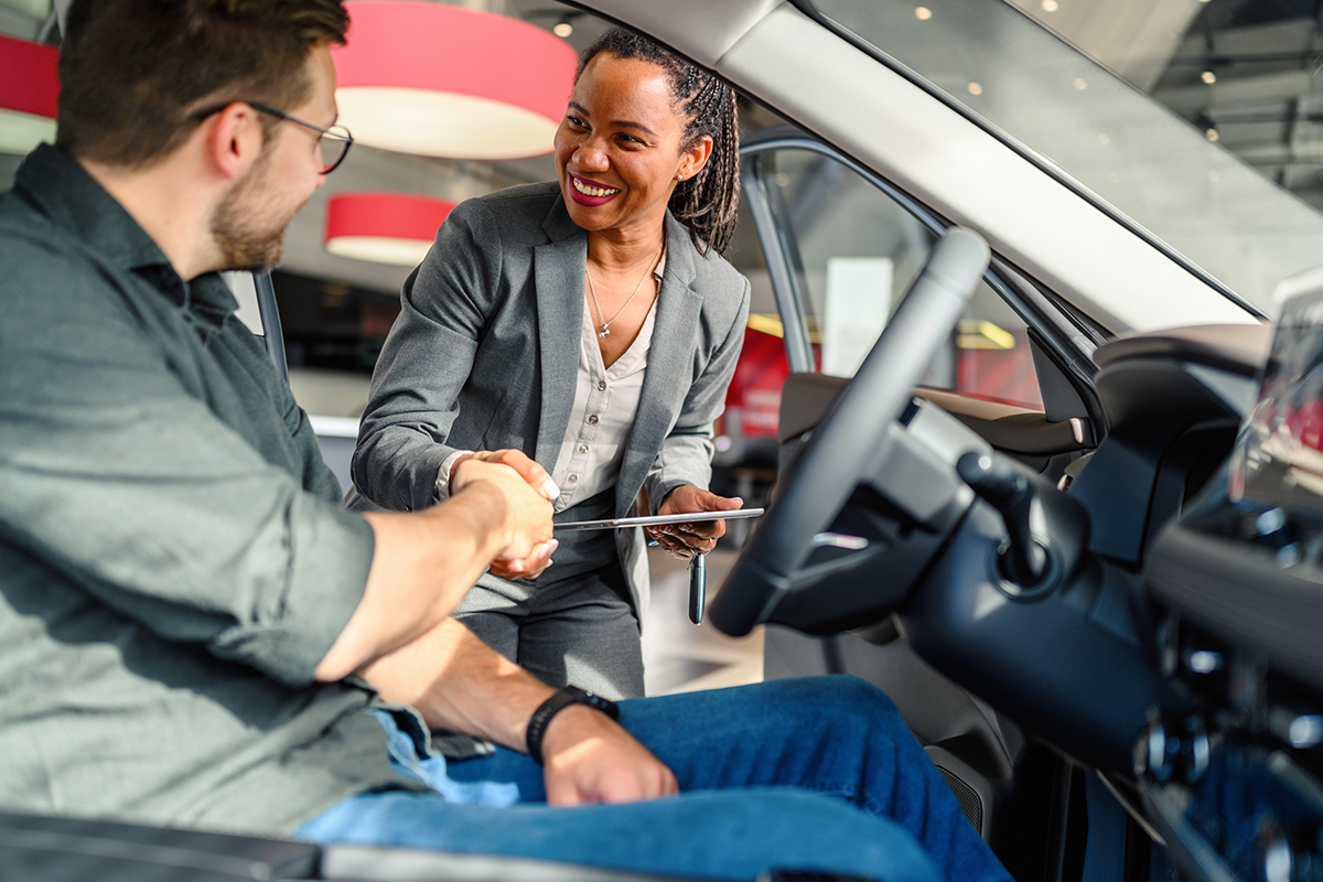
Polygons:
[[820,543],[816,537],[872,473],[889,423],[905,413],[933,356],[950,340],[990,259],[987,243],[960,227],[934,246],[713,599],[708,615],[720,631],[744,636],[771,618]]

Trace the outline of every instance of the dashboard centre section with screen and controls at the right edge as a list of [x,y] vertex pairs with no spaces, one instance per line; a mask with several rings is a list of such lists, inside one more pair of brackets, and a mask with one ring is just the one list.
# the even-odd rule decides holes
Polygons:
[[1286,305],[1230,456],[1144,567],[1171,697],[1135,774],[1195,878],[1323,879],[1320,303]]

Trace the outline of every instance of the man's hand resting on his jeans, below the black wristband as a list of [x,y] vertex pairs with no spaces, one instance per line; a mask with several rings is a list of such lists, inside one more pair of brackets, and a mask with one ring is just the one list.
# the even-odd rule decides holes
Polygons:
[[548,805],[634,803],[680,792],[675,774],[606,714],[570,705],[542,737]]

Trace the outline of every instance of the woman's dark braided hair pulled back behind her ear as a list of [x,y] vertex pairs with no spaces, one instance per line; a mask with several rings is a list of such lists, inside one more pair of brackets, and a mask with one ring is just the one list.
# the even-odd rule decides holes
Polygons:
[[712,155],[697,175],[680,181],[668,208],[689,227],[689,238],[701,254],[724,254],[734,237],[740,209],[740,123],[736,93],[720,77],[691,65],[647,37],[624,28],[610,28],[579,56],[579,75],[594,56],[609,52],[618,58],[650,61],[665,71],[676,107],[689,118],[681,149],[712,138]]

